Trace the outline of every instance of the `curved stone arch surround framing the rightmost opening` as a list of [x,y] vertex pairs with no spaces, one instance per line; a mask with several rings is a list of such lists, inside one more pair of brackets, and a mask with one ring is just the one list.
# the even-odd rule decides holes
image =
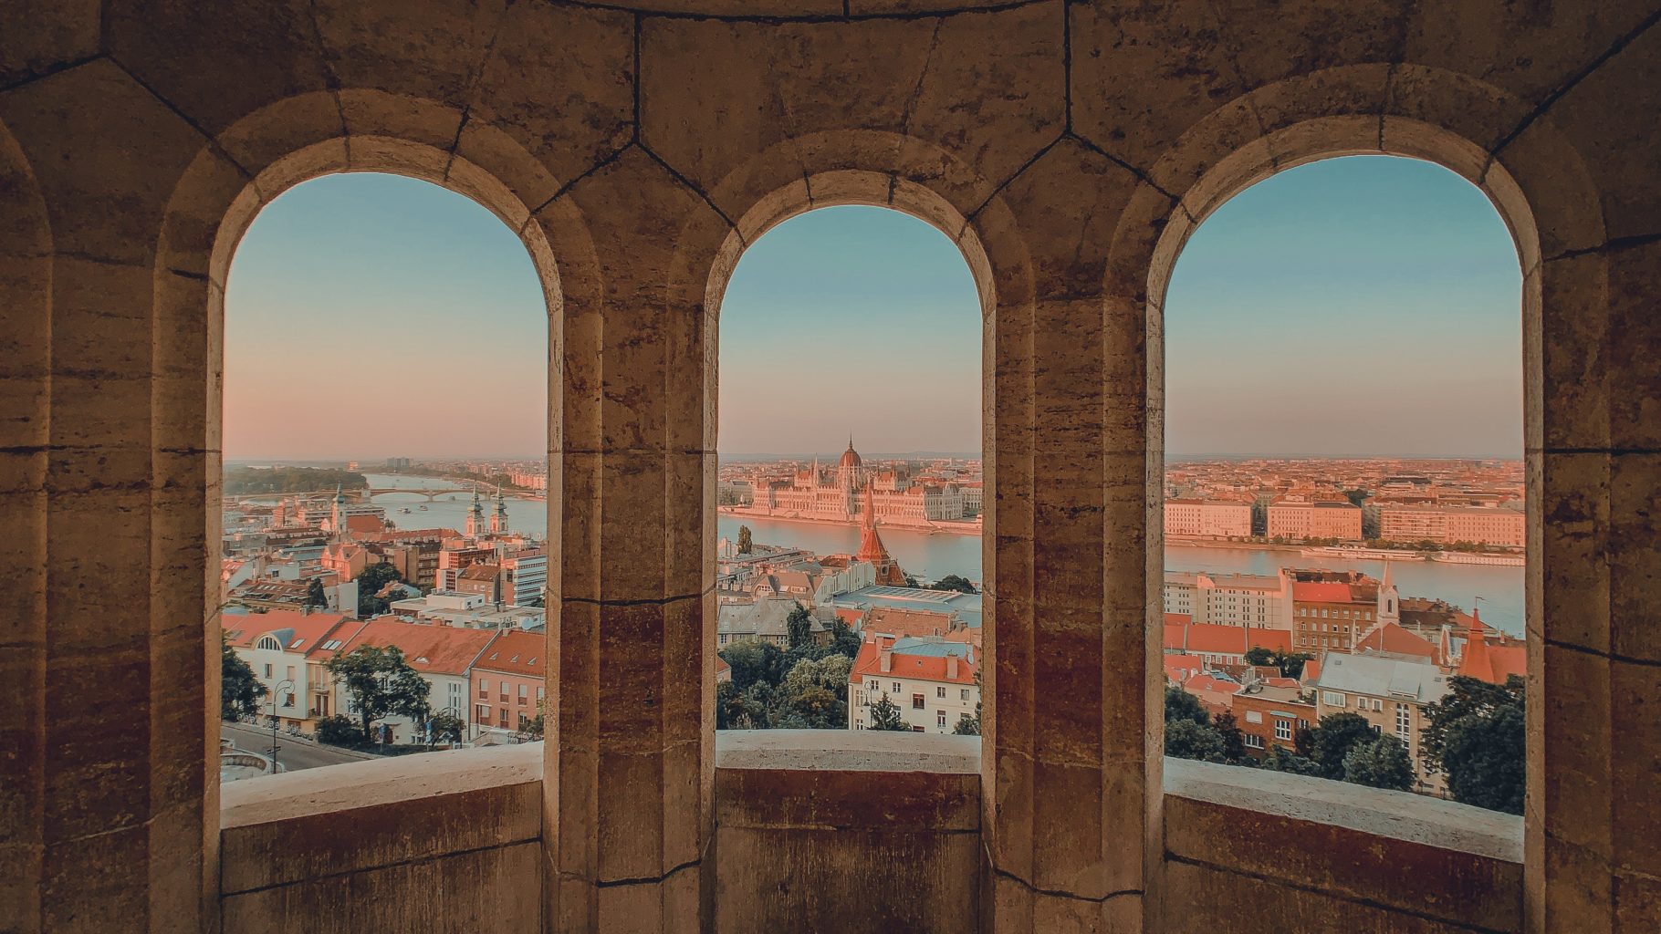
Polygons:
[[[1163,463],[1164,292],[1183,246],[1216,207],[1257,181],[1317,159],[1347,154],[1409,156],[1437,163],[1475,184],[1512,232],[1523,274],[1523,450],[1528,473],[1528,805],[1525,811],[1525,929],[1550,929],[1548,917],[1573,912],[1576,883],[1548,881],[1555,839],[1596,810],[1595,783],[1548,778],[1545,748],[1563,750],[1583,732],[1588,713],[1610,715],[1595,698],[1575,715],[1546,710],[1548,685],[1561,683],[1546,664],[1546,642],[1588,642],[1585,625],[1565,619],[1575,596],[1606,597],[1606,582],[1573,581],[1558,562],[1585,557],[1586,542],[1561,533],[1545,539],[1545,513],[1573,504],[1553,523],[1595,521],[1606,491],[1585,476],[1548,478],[1543,463],[1556,450],[1595,446],[1586,431],[1588,405],[1606,405],[1598,362],[1610,319],[1603,207],[1593,176],[1571,139],[1548,114],[1455,71],[1418,65],[1354,65],[1267,85],[1213,111],[1186,131],[1143,181],[1143,197],[1121,217],[1108,257],[1106,294],[1139,302],[1148,320],[1149,453]],[[1139,206],[1139,209],[1138,209]],[[1591,254],[1591,255],[1580,255]],[[1588,265],[1553,269],[1553,260]],[[1606,428],[1606,426],[1605,426]],[[1583,438],[1591,438],[1591,443]],[[1606,436],[1603,438],[1606,443]],[[1560,471],[1561,473],[1561,471]],[[1158,509],[1163,484],[1148,484],[1149,552],[1163,549]],[[1606,508],[1606,506],[1605,506]],[[1553,567],[1541,567],[1546,562]],[[1158,592],[1149,562],[1149,594]],[[1560,591],[1555,594],[1553,591]],[[1555,614],[1548,611],[1556,611]],[[1158,611],[1149,607],[1148,639],[1156,649]],[[1605,619],[1605,622],[1608,622]],[[1561,635],[1560,635],[1561,634]],[[1608,632],[1603,634],[1605,640]],[[1596,634],[1590,637],[1596,644]],[[1560,654],[1561,655],[1561,654]],[[1566,687],[1566,685],[1565,685]],[[1556,687],[1551,688],[1556,697]],[[1153,727],[1156,732],[1159,727]],[[1566,742],[1565,742],[1566,740]],[[1553,753],[1558,768],[1560,753]],[[1565,766],[1585,771],[1586,763]],[[1606,768],[1606,766],[1605,766]],[[1591,766],[1596,773],[1598,766]],[[1605,778],[1598,775],[1598,778]],[[1550,800],[1546,795],[1550,793]],[[1608,828],[1603,828],[1606,831]],[[1591,831],[1591,836],[1601,831]],[[1568,836],[1585,836],[1570,831]]]

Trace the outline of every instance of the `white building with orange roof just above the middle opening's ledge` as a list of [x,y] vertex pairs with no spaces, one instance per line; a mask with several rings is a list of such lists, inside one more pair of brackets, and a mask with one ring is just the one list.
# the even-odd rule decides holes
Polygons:
[[870,707],[889,698],[914,733],[950,733],[980,703],[975,649],[940,637],[875,637],[849,672],[847,728],[870,728]]

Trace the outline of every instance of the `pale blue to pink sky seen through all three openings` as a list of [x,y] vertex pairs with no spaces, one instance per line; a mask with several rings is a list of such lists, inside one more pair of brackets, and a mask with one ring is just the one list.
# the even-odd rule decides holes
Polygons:
[[[1452,173],[1347,158],[1271,178],[1184,249],[1168,450],[1521,451],[1516,254]],[[533,455],[546,312],[483,207],[329,176],[279,197],[226,297],[226,456]],[[980,309],[938,231],[875,207],[787,221],[721,310],[723,453],[973,451]]]

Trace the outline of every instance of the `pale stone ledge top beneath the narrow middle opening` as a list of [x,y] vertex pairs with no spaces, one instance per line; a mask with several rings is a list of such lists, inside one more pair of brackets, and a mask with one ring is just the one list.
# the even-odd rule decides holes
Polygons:
[[716,771],[980,775],[980,737],[885,730],[718,730]]

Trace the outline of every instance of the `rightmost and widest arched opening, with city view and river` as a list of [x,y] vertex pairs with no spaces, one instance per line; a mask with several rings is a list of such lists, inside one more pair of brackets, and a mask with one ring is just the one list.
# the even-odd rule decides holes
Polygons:
[[1227,194],[1149,284],[1166,752],[1520,815],[1518,219],[1389,156]]

